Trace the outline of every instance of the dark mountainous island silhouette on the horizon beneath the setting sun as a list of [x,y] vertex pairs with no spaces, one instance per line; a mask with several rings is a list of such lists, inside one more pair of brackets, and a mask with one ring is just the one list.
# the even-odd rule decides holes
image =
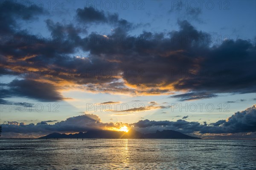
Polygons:
[[110,131],[110,130],[89,130],[85,133],[79,132],[75,134],[64,134],[64,133],[51,133],[46,136],[42,136],[39,139],[45,138],[173,138],[173,139],[201,139],[197,137],[192,137],[189,135],[185,135],[183,133],[174,131],[174,130],[157,130],[156,133],[139,133],[135,130],[129,130],[128,133],[118,132],[118,131]]

